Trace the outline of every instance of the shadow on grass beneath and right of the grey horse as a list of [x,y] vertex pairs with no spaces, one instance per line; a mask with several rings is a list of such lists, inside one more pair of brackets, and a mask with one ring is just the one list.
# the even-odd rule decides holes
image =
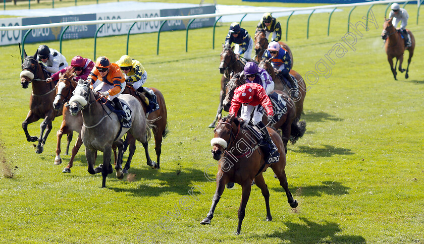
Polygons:
[[[134,183],[138,187],[123,188],[120,187],[108,187],[116,192],[129,192],[135,196],[149,196],[157,197],[164,193],[177,193],[180,195],[187,195],[188,191],[194,187],[193,182],[208,181],[202,170],[184,168],[182,170],[173,170],[168,172],[161,172],[150,169],[148,166],[142,168],[130,168],[130,174],[135,174]],[[116,179],[115,173],[109,174],[108,177]],[[127,175],[125,175],[127,177]],[[125,179],[124,179],[125,180]],[[152,184],[152,181],[160,180],[158,183]],[[203,194],[198,189],[192,191],[193,194]]]

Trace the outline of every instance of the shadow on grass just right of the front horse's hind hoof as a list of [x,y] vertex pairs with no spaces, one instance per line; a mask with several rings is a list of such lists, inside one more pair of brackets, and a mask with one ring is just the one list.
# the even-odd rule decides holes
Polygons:
[[[271,190],[276,192],[285,193],[282,187],[271,188]],[[323,181],[322,185],[319,186],[307,186],[299,187],[294,196],[305,196],[305,197],[320,197],[323,194],[325,195],[345,195],[349,194],[350,188],[343,186],[338,181]],[[293,192],[293,190],[292,190]]]

